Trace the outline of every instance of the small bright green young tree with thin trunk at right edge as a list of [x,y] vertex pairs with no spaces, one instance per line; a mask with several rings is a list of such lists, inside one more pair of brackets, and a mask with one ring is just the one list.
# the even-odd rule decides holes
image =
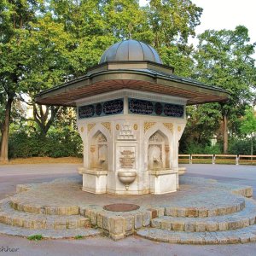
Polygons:
[[253,108],[246,108],[240,129],[243,134],[251,137],[251,154],[253,155],[253,137],[256,135],[256,112]]

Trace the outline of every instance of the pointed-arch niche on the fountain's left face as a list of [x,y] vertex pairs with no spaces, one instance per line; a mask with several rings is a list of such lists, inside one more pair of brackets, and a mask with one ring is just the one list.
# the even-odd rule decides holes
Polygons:
[[108,140],[101,131],[90,139],[90,169],[108,171]]

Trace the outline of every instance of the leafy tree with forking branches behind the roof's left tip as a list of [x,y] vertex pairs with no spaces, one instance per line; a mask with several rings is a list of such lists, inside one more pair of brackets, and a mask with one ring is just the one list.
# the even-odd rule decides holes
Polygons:
[[[52,15],[47,13],[38,17],[37,22],[31,22],[25,47],[30,58],[23,72],[23,88],[20,97],[32,106],[33,121],[38,124],[39,134],[46,136],[53,124],[59,106],[41,106],[34,102],[34,96],[40,91],[55,84],[61,84],[72,75],[70,35],[64,31],[64,26],[56,23]],[[24,95],[27,95],[24,99]]]

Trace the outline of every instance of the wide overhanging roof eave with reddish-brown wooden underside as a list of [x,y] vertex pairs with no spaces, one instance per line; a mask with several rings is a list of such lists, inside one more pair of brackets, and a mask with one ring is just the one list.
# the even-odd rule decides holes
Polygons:
[[36,97],[36,102],[44,105],[75,107],[76,101],[79,99],[121,89],[183,97],[188,100],[188,105],[224,102],[228,99],[228,94],[224,90],[217,90],[214,87],[130,71],[128,73],[103,72],[91,77],[84,76],[82,79],[76,79],[59,87],[43,91]]

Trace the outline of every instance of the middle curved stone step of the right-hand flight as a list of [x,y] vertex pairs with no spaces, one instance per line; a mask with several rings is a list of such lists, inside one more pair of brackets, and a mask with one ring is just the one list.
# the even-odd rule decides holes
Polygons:
[[183,218],[162,216],[151,220],[151,226],[161,230],[186,232],[237,230],[255,224],[256,204],[247,199],[246,207],[241,212],[208,218]]

